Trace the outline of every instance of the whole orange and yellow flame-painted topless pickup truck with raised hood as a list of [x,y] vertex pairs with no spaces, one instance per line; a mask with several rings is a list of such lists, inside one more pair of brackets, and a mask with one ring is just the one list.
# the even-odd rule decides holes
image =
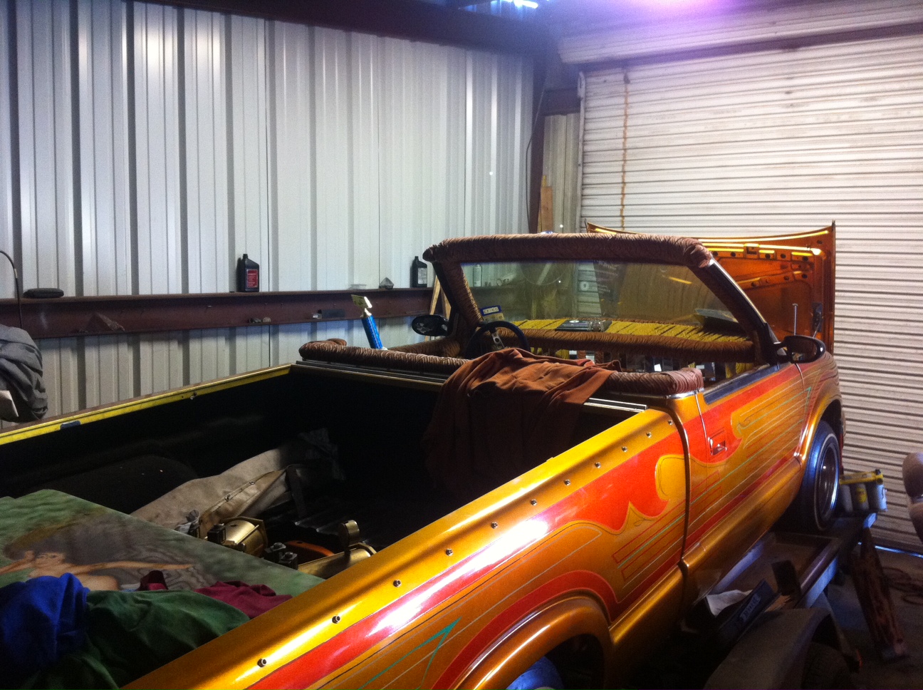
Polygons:
[[[308,343],[292,365],[0,433],[20,549],[0,565],[26,572],[47,536],[17,509],[30,497],[143,516],[321,434],[323,463],[244,513],[319,576],[132,687],[617,687],[777,520],[833,520],[833,227],[590,230],[429,248],[451,309],[419,320],[423,342]],[[126,588],[116,560],[95,573]]]

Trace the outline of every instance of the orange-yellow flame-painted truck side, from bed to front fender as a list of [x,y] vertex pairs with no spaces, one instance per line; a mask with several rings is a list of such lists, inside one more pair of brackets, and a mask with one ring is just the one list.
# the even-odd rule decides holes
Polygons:
[[711,403],[648,399],[131,687],[506,687],[579,635],[596,637],[611,683],[781,514],[836,399],[830,357]]

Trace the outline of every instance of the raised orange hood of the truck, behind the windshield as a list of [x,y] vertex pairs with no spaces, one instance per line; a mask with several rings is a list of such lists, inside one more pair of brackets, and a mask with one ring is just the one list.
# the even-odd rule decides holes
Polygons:
[[[587,224],[589,232],[628,231]],[[807,233],[699,237],[780,340],[820,338],[833,351],[835,224]]]

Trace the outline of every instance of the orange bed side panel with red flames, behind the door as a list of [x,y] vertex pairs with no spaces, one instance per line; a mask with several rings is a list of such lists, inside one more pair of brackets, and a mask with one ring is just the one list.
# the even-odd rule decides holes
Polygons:
[[685,507],[680,436],[647,410],[132,687],[506,687],[561,634],[641,644],[676,620]]

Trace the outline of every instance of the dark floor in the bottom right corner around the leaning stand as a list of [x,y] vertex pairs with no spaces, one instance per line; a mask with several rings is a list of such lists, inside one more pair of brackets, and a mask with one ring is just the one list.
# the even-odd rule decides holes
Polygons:
[[906,553],[879,550],[881,566],[889,581],[898,577],[905,579],[891,568],[903,571],[908,582],[917,587],[919,603],[904,599],[905,592],[891,588],[891,599],[898,622],[903,627],[908,655],[904,659],[882,662],[872,645],[869,628],[856,598],[851,577],[843,585],[830,585],[827,599],[830,600],[837,623],[846,638],[857,648],[862,658],[861,670],[854,674],[861,690],[920,690],[923,688],[923,558]]

